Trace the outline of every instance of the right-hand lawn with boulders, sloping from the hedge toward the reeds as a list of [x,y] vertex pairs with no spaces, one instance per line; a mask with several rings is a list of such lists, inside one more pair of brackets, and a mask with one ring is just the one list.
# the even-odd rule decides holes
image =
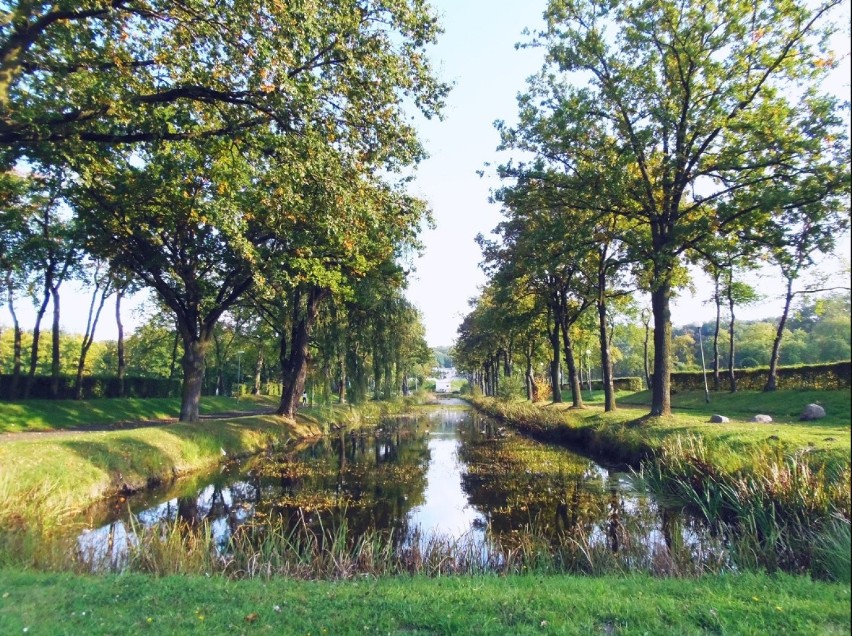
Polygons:
[[[697,437],[705,442],[715,465],[733,472],[753,465],[755,457],[806,454],[809,462],[848,465],[850,460],[850,391],[777,391],[713,394],[703,392],[672,396],[674,415],[646,417],[647,392],[620,397],[619,409],[605,413],[593,403],[572,409],[570,404],[474,400],[477,408],[506,419],[536,437],[575,443],[592,453],[637,465],[677,437]],[[823,404],[828,417],[800,422],[798,414],[810,402]],[[731,422],[713,424],[713,413],[731,414]],[[773,421],[749,421],[765,413]],[[793,415],[795,414],[795,415]],[[739,416],[739,417],[738,417]]]

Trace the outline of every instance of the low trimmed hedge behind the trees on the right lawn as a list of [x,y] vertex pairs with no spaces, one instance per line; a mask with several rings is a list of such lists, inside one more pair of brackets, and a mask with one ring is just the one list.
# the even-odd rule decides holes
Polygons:
[[[720,371],[723,387],[727,388],[727,371]],[[737,388],[744,391],[762,391],[769,378],[769,367],[734,369]],[[836,390],[852,386],[852,362],[832,362],[778,367],[775,384],[779,389]],[[679,372],[671,375],[673,391],[704,390],[704,374],[700,371]],[[707,372],[707,383],[712,388],[713,374]]]

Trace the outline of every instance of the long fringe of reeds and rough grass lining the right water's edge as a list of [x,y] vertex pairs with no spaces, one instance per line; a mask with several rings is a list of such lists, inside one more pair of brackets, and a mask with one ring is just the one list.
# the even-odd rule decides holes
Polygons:
[[850,461],[704,436],[686,416],[572,412],[552,405],[474,398],[471,403],[535,439],[626,463],[637,487],[669,508],[688,508],[726,537],[738,569],[783,570],[849,582]]

